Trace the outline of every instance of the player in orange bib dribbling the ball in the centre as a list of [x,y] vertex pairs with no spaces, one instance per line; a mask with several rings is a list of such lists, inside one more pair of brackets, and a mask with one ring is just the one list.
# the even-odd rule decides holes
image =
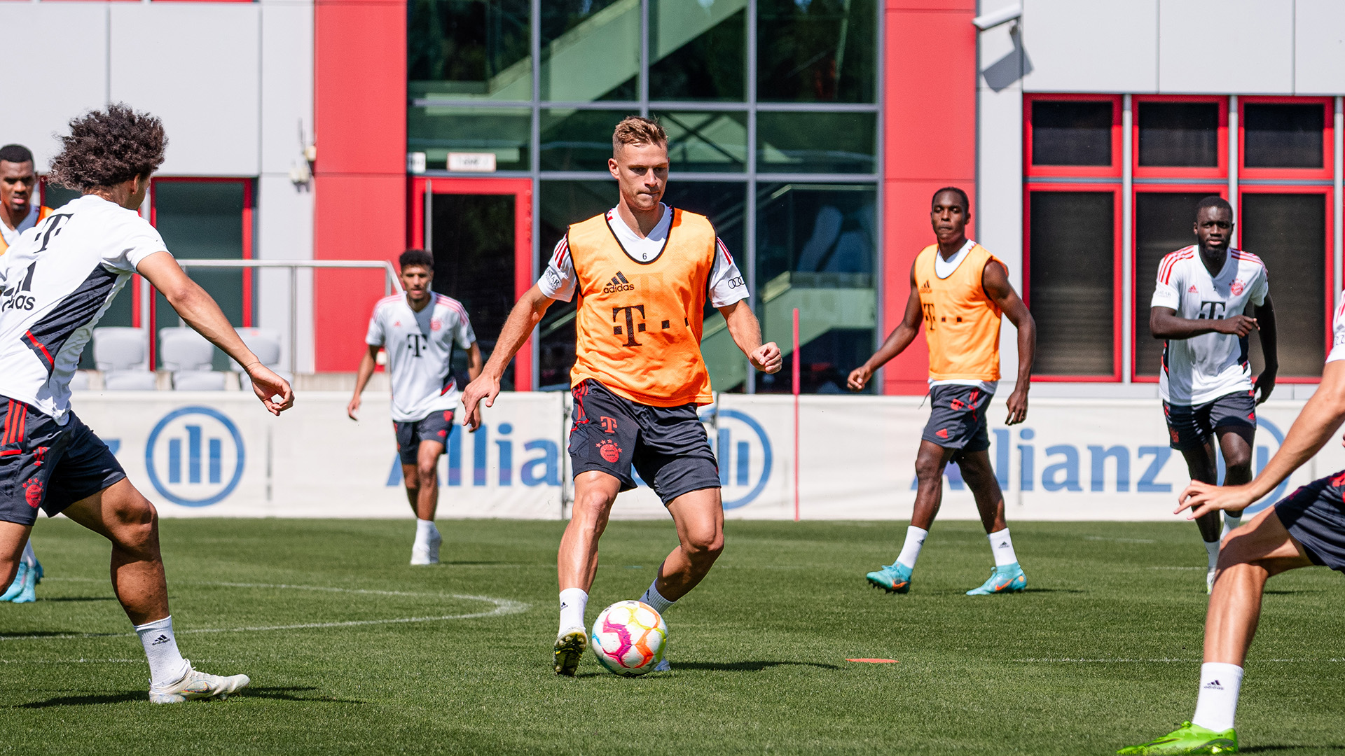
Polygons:
[[[578,293],[570,371],[574,510],[561,549],[561,623],[555,674],[573,675],[588,646],[584,609],[597,572],[597,541],[612,502],[635,488],[631,468],[652,486],[677,523],[678,546],[640,601],[666,612],[695,588],[724,549],[720,474],[697,406],[713,401],[701,356],[706,300],[733,342],[764,373],[780,370],[775,343],[746,303],[737,265],[703,215],[659,199],[667,186],[667,135],[631,116],[616,125],[608,169],[620,202],[569,227],[542,278],[514,305],[495,351],[463,393],[467,424],[482,421],[500,374],[546,308]],[[667,662],[659,670],[667,669]]]

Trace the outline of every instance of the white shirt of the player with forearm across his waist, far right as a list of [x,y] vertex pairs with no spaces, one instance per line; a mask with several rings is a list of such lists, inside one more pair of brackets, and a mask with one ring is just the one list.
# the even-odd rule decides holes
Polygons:
[[[1219,274],[1210,276],[1196,245],[1178,249],[1158,264],[1151,307],[1170,307],[1188,320],[1223,320],[1245,315],[1266,301],[1270,282],[1259,257],[1229,249]],[[1250,391],[1252,369],[1247,339],[1204,334],[1163,342],[1158,395],[1174,405],[1201,405],[1236,391]]]

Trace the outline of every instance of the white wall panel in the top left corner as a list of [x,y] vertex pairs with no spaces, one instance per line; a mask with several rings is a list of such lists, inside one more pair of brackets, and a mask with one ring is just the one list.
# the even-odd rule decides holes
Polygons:
[[[52,133],[108,101],[105,3],[0,3],[11,93],[0,108],[0,144],[32,149],[44,172],[59,149]],[[13,75],[17,74],[17,75]]]

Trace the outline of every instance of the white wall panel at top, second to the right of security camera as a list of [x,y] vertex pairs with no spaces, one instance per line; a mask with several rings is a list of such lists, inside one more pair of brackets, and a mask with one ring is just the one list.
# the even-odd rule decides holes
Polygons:
[[1291,94],[1294,0],[1161,0],[1158,89]]

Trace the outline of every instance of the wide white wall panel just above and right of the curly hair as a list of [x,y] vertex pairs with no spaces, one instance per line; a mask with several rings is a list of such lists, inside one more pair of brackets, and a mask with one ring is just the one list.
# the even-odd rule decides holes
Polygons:
[[260,11],[254,3],[113,3],[110,90],[163,118],[161,174],[256,176]]

